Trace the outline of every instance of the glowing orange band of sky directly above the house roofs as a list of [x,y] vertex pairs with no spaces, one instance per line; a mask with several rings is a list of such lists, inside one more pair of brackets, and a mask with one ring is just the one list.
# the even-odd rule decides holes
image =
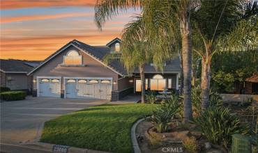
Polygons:
[[110,40],[119,37],[119,31],[105,31],[90,35],[56,35],[38,38],[2,38],[0,58],[26,60],[44,60],[54,51],[77,39],[89,45],[106,45]]

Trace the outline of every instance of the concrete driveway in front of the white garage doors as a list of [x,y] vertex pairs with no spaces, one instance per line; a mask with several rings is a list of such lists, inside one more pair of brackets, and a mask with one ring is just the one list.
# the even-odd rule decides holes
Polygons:
[[1,143],[14,145],[33,143],[40,138],[45,121],[107,102],[96,99],[47,97],[26,97],[22,101],[1,102]]

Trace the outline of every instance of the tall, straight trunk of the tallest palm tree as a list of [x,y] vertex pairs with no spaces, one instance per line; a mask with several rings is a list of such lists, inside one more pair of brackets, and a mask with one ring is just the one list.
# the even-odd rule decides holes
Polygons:
[[182,55],[183,55],[183,122],[192,120],[191,102],[191,77],[192,77],[192,44],[190,33],[190,15],[186,11],[180,18],[180,28],[182,35]]

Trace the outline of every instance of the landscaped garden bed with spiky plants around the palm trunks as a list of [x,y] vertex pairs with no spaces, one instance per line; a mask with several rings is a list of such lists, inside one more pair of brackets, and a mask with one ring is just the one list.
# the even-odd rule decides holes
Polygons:
[[[151,118],[138,124],[136,134],[142,152],[230,152],[237,147],[232,146],[234,134],[242,134],[255,144],[258,112],[254,101],[241,102],[238,106],[224,104],[217,92],[210,91],[210,106],[201,112],[200,96],[200,88],[193,88],[194,118],[188,124],[182,120],[181,99],[175,95],[163,99]],[[149,100],[155,103],[152,101]],[[250,150],[247,145],[241,146]]]

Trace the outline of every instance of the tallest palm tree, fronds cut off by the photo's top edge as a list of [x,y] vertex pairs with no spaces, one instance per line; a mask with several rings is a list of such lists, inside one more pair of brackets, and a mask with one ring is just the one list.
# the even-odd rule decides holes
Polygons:
[[[191,103],[191,69],[192,69],[192,44],[190,29],[190,10],[193,6],[191,0],[102,0],[97,1],[95,7],[95,21],[99,29],[110,19],[112,15],[117,15],[119,10],[128,8],[142,8],[142,17],[146,28],[146,38],[151,45],[154,45],[153,63],[162,69],[169,49],[162,49],[162,46],[169,45],[171,34],[176,25],[180,27],[182,42],[182,61],[183,61],[183,95],[184,95],[184,122],[192,118]],[[157,24],[157,21],[159,24]],[[169,22],[167,24],[167,22]],[[169,31],[166,33],[167,25]],[[178,27],[177,27],[178,28]],[[177,31],[177,29],[176,29]],[[167,39],[169,38],[169,39]]]

